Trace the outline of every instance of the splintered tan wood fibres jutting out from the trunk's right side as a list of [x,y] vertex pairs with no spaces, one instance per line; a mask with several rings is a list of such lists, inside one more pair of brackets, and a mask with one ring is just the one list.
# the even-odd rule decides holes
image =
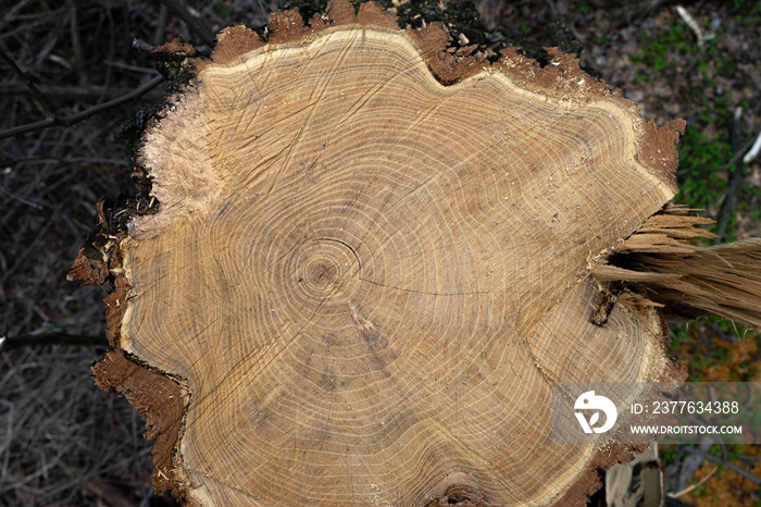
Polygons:
[[671,321],[718,316],[761,329],[761,239],[698,246],[694,238],[714,234],[695,226],[713,221],[687,211],[668,206],[652,215],[615,247],[615,265],[595,267],[594,277],[637,282],[640,302],[661,307]]

